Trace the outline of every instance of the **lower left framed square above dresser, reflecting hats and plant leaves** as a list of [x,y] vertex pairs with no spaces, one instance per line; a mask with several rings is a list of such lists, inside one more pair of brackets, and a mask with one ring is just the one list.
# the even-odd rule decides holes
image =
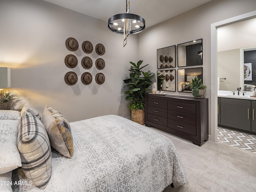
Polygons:
[[176,91],[176,70],[161,70],[157,71],[157,85],[158,90],[162,91]]

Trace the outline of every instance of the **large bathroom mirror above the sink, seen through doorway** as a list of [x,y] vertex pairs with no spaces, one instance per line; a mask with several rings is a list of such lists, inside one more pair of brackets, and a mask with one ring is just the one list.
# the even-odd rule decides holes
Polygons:
[[[236,91],[241,87],[250,91],[256,86],[255,34],[256,18],[217,28],[218,90]],[[252,64],[244,67],[244,63]],[[244,81],[248,73],[252,78]]]

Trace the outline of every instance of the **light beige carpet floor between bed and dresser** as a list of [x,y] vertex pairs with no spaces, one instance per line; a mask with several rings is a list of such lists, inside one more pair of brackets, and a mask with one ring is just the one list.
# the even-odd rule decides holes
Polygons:
[[[152,128],[152,127],[151,127]],[[184,165],[186,184],[164,192],[255,192],[256,153],[221,142],[192,142],[152,128],[170,138]]]

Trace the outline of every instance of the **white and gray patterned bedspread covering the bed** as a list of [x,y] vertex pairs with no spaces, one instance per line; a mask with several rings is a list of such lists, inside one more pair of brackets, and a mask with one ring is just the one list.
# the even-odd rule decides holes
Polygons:
[[[178,151],[162,134],[116,115],[70,125],[74,154],[69,159],[53,151],[52,175],[42,191],[162,192],[172,181],[185,184]],[[26,181],[22,173],[19,168],[12,182]],[[12,187],[41,191],[29,183]]]

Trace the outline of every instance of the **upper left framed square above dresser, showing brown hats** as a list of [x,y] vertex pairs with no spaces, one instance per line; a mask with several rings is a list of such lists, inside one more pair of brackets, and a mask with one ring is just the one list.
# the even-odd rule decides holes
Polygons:
[[157,68],[176,67],[176,46],[169,46],[157,50]]

